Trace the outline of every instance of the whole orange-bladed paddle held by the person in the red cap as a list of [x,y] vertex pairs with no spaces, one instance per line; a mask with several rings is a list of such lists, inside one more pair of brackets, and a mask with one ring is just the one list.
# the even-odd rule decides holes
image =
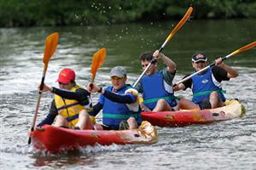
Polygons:
[[[58,40],[59,40],[59,34],[57,32],[55,32],[53,34],[50,34],[45,39],[44,58],[43,58],[44,71],[43,71],[43,77],[42,77],[41,84],[40,84],[40,90],[42,90],[44,88],[44,78],[45,78],[45,74],[46,74],[46,71],[47,71],[48,62],[49,62],[49,59],[51,58],[51,56],[55,53],[55,48],[57,46]],[[35,115],[34,115],[34,118],[33,118],[31,132],[34,131],[34,127],[35,127],[35,124],[36,124],[36,119],[37,119],[37,116],[38,116],[38,108],[39,108],[40,100],[41,100],[41,94],[42,93],[39,91],[39,93],[38,93],[38,103],[36,105],[36,112],[35,112]],[[28,144],[31,144],[31,135],[29,136]]]

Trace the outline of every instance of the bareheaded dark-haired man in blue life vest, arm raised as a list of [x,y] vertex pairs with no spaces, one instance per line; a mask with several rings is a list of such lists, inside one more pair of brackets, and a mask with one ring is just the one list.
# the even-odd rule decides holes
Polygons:
[[[173,111],[179,109],[197,108],[189,99],[177,99],[174,97],[172,81],[176,74],[176,64],[161,54],[159,50],[154,54],[147,52],[140,55],[141,65],[145,69],[151,59],[154,62],[146,71],[141,81],[135,87],[137,91],[143,94],[143,102],[140,103],[143,111]],[[157,62],[162,60],[167,66],[161,71],[157,71]]]

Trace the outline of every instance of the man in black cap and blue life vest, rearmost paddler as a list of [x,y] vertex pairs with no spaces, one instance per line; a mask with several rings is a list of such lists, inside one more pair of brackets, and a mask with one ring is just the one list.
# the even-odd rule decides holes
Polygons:
[[[192,65],[195,71],[205,68],[207,66],[207,55],[201,51],[196,52],[192,56]],[[221,82],[229,81],[233,77],[238,77],[238,72],[229,65],[225,65],[222,59],[218,58],[215,60],[213,67],[195,75],[186,82],[178,84],[174,90],[191,88],[193,92],[192,101],[199,105],[201,109],[221,107],[224,106],[225,101]]]

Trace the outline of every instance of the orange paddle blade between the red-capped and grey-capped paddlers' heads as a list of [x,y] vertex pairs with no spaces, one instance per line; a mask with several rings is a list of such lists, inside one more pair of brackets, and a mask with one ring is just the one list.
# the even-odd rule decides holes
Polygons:
[[96,77],[96,71],[98,68],[100,68],[103,65],[104,60],[106,59],[107,55],[107,49],[102,48],[96,52],[96,54],[93,54],[92,61],[91,61],[91,67],[90,67],[90,73],[91,73],[91,82],[94,81]]

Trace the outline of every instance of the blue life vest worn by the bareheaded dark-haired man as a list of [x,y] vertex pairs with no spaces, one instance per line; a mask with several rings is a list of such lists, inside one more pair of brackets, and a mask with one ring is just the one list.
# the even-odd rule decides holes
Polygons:
[[143,87],[143,104],[148,109],[153,110],[159,99],[165,99],[172,107],[177,105],[172,87],[166,83],[170,92],[165,89],[162,71],[158,71],[154,75],[144,75],[141,84]]

